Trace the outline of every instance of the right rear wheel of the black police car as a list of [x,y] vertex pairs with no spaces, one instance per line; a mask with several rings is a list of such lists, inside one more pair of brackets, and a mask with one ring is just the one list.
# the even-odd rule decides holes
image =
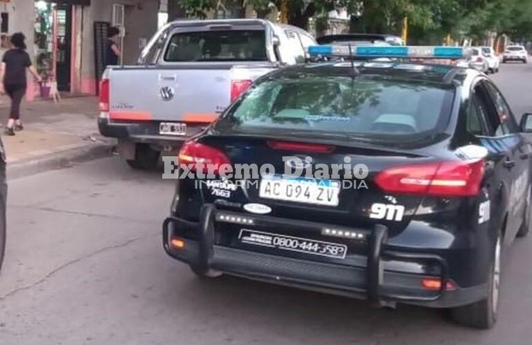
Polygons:
[[497,237],[493,250],[493,257],[489,265],[488,287],[486,298],[479,302],[459,306],[450,310],[455,322],[463,326],[488,329],[497,321],[497,307],[499,304],[500,277],[502,260],[502,236]]

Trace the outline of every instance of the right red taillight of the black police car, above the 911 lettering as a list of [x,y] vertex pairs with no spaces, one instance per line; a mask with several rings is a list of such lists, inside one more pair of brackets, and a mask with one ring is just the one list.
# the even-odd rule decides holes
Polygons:
[[444,161],[388,168],[375,183],[388,193],[465,197],[479,193],[483,177],[483,160]]

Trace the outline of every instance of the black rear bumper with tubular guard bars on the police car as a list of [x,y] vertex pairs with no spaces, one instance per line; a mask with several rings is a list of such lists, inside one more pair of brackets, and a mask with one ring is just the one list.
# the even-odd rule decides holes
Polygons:
[[[359,257],[357,262],[350,260],[347,264],[339,264],[222,246],[216,243],[215,222],[217,214],[225,213],[227,212],[219,211],[212,205],[205,205],[197,223],[175,217],[167,218],[162,231],[164,249],[171,257],[202,272],[209,269],[220,270],[238,277],[369,299],[381,304],[400,302],[450,308],[471,304],[486,297],[486,284],[468,288],[454,284],[452,290],[447,290],[446,284],[450,282],[447,264],[438,255],[388,250],[388,230],[385,226],[376,226],[368,231],[365,239],[367,256]],[[256,218],[263,224],[266,221],[290,222],[289,219],[271,219],[272,217],[249,214],[243,216]],[[170,241],[175,237],[184,242],[183,248],[171,246]],[[408,268],[416,264],[418,270],[424,270],[428,262],[431,263],[429,266],[437,266],[439,275],[434,275],[434,269],[415,272]],[[438,279],[441,288],[424,289],[421,286],[423,278]]]

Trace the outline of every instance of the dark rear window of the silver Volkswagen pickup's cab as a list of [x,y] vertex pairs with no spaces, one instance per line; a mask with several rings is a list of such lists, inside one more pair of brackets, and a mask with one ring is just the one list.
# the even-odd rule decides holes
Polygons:
[[264,30],[220,30],[174,34],[164,61],[267,61]]

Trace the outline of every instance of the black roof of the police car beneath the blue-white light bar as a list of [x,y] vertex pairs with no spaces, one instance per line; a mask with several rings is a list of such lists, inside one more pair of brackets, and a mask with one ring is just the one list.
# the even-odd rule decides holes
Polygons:
[[[468,68],[424,63],[356,61],[354,68],[358,75],[387,77],[390,79],[409,79],[441,84],[463,85],[467,77],[475,71]],[[274,73],[276,77],[314,76],[349,76],[353,67],[350,61],[309,63],[306,65],[282,68]]]

